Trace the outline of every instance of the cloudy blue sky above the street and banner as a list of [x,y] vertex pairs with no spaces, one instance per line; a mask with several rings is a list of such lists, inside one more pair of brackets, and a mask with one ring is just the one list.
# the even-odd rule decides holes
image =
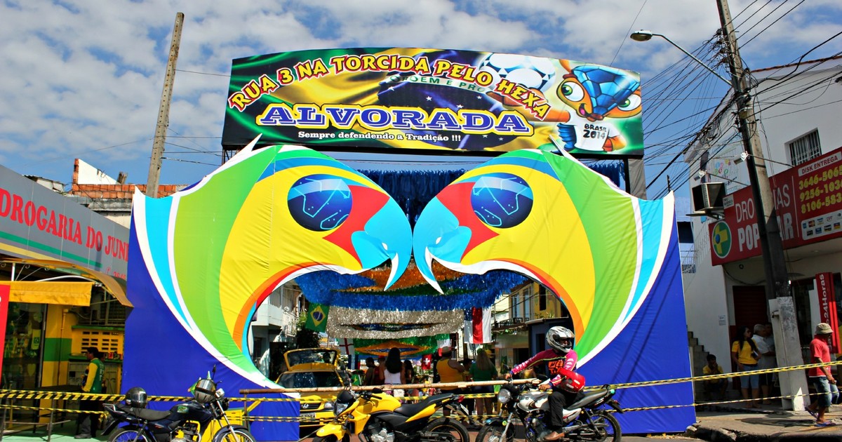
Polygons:
[[[820,45],[842,30],[839,0],[732,0],[730,8],[751,68],[797,61],[817,45],[807,59],[842,50],[839,37]],[[113,177],[125,171],[129,182],[145,184],[178,12],[185,20],[162,184],[193,183],[221,163],[235,58],[408,46],[590,61],[641,72],[644,130],[690,130],[685,125],[693,123],[677,113],[657,122],[646,116],[653,107],[647,88],[656,88],[658,74],[684,55],[663,40],[637,43],[628,35],[651,29],[694,51],[719,27],[714,0],[4,0],[0,164],[69,184],[73,158],[80,157]],[[715,86],[701,89],[707,97],[691,99],[716,103],[726,93],[716,78],[697,76]],[[658,155],[664,159],[649,161],[647,177],[671,156]]]

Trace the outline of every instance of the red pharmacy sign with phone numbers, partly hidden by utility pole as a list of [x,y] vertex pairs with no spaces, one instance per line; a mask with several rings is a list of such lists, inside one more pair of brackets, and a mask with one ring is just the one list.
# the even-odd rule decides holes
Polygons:
[[[842,237],[842,148],[770,177],[784,248]],[[721,221],[708,227],[711,264],[760,256],[757,211],[751,188],[724,200]]]

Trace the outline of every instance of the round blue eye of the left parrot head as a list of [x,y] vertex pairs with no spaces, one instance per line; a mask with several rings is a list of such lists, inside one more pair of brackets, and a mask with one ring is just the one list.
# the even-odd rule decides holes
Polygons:
[[286,195],[286,204],[298,224],[315,232],[326,232],[342,225],[354,200],[343,178],[316,174],[296,181]]

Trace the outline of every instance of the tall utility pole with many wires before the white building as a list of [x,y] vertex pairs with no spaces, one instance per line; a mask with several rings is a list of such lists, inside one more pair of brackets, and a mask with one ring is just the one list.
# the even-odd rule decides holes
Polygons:
[[[727,0],[717,0],[722,35],[728,52],[731,69],[731,86],[736,97],[737,120],[743,137],[745,152],[749,153],[749,184],[754,197],[754,211],[757,213],[757,227],[760,235],[760,250],[763,254],[763,268],[766,275],[766,299],[775,333],[775,353],[778,366],[802,365],[801,342],[798,338],[798,324],[795,304],[790,293],[789,275],[786,273],[781,229],[778,226],[775,199],[766,173],[763,150],[754,120],[754,102],[749,90],[751,85],[743,72],[743,61],[739,56],[737,38],[734,36],[731,12]],[[750,325],[750,324],[749,324]],[[781,395],[793,396],[784,399],[784,407],[792,410],[804,409],[803,394],[807,394],[807,379],[802,370],[781,372]]]

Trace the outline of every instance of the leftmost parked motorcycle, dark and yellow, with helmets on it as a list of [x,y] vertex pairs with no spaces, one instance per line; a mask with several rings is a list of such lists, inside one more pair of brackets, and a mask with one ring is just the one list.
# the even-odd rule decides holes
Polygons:
[[211,373],[190,391],[192,400],[158,411],[147,408],[146,391],[131,388],[125,401],[103,405],[109,418],[102,434],[117,429],[109,442],[256,442],[245,426],[228,419],[228,399]]

